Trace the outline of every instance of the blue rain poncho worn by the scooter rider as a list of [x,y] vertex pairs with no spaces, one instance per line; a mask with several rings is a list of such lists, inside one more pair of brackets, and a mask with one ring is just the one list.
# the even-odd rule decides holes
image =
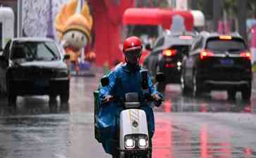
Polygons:
[[[118,96],[125,98],[125,94],[129,92],[137,92],[139,97],[142,96],[140,70],[142,67],[130,67],[130,65],[119,64],[107,76],[109,77],[109,85],[99,88],[99,101],[101,102],[106,95]],[[154,85],[149,75],[147,75],[149,93],[158,93],[154,89]],[[112,154],[113,137],[116,136],[118,128],[119,115],[123,108],[116,102],[109,102],[105,105],[99,105],[99,114],[97,126],[101,133],[102,145],[105,152]],[[150,105],[142,106],[147,114],[147,122],[149,124],[150,137],[154,135],[154,113]]]

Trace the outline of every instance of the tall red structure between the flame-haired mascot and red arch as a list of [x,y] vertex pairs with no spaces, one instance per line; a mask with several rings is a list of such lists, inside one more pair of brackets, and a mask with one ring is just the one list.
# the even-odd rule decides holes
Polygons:
[[119,44],[121,41],[121,25],[126,8],[134,5],[133,0],[89,0],[95,30],[96,64],[105,62],[113,65],[115,60],[122,59]]

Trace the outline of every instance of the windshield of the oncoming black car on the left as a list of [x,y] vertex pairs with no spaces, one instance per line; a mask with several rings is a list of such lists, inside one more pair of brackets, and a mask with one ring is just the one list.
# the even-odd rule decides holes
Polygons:
[[11,59],[59,60],[60,54],[56,44],[51,41],[15,41]]

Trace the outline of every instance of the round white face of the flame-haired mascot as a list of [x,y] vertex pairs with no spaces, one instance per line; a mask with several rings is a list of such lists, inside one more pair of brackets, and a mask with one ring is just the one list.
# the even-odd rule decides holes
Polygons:
[[73,46],[76,49],[83,48],[87,45],[88,39],[83,32],[77,30],[71,30],[64,34],[63,39],[66,41],[68,46]]

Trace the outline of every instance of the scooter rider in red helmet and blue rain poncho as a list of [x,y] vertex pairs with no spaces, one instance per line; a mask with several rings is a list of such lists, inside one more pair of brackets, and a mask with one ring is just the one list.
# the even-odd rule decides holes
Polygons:
[[[125,98],[126,93],[136,92],[139,98],[144,93],[141,83],[142,67],[139,65],[142,44],[138,37],[129,37],[124,41],[123,53],[126,63],[117,65],[113,71],[107,74],[109,78],[108,86],[99,88],[99,114],[97,126],[102,138],[102,145],[105,152],[113,154],[113,138],[117,135],[116,116],[119,116],[123,108],[117,102],[110,101],[113,96]],[[154,89],[152,80],[147,75],[147,93],[154,99],[154,105],[161,105],[161,95]],[[141,108],[145,111],[148,122],[150,139],[154,135],[154,114],[150,105]]]

